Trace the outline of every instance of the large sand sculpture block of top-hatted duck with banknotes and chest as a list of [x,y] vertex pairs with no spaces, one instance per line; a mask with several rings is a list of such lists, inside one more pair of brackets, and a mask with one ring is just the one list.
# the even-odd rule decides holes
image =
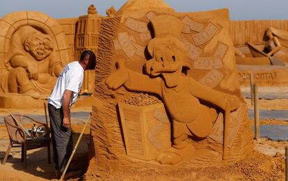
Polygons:
[[161,0],[102,19],[87,175],[177,178],[251,150],[229,24],[227,10],[176,13]]

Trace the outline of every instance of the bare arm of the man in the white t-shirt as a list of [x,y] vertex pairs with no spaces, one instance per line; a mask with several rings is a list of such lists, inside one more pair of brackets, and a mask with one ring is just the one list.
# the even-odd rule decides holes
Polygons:
[[72,99],[73,92],[65,90],[62,97],[62,109],[63,109],[63,127],[70,127],[70,102]]

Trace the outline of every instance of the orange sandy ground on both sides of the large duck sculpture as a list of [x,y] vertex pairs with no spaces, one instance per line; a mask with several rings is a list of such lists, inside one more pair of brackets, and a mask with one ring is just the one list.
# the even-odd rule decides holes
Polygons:
[[[253,109],[250,105],[248,107]],[[260,109],[280,109],[288,108],[288,100],[260,100]],[[44,114],[43,109],[12,110],[21,113]],[[73,111],[88,111],[88,109],[74,109]],[[0,109],[0,115],[6,115],[6,109]],[[253,120],[250,120],[253,125]],[[260,120],[262,125],[288,125],[283,120]],[[74,143],[81,132],[83,125],[72,125],[74,131]],[[72,162],[74,168],[85,171],[88,163],[88,141],[90,130],[86,129],[84,137],[76,152]],[[6,127],[0,125],[0,159],[3,159],[8,146],[8,135]],[[285,141],[270,141],[260,139],[255,141],[254,151],[235,164],[220,168],[195,168],[191,173],[191,179],[195,180],[285,180]],[[0,165],[0,180],[53,180],[54,164],[47,164],[47,149],[37,149],[28,152],[28,168],[24,169],[20,160],[21,152],[19,148],[13,148],[10,157],[5,165]],[[74,178],[82,180],[83,176]],[[87,178],[89,180],[89,178]],[[193,179],[193,180],[194,180]],[[159,178],[161,180],[161,178]]]

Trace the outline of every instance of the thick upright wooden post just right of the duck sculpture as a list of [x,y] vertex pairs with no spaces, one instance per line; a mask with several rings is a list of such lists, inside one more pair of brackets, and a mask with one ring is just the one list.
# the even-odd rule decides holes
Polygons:
[[255,121],[255,139],[260,138],[260,122],[259,122],[259,105],[258,105],[258,85],[254,84],[254,121]]

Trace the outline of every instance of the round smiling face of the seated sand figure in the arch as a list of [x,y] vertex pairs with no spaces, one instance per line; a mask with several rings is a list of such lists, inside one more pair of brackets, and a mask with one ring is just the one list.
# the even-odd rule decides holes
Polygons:
[[43,33],[33,33],[24,40],[24,49],[37,61],[42,61],[53,51],[51,38]]

